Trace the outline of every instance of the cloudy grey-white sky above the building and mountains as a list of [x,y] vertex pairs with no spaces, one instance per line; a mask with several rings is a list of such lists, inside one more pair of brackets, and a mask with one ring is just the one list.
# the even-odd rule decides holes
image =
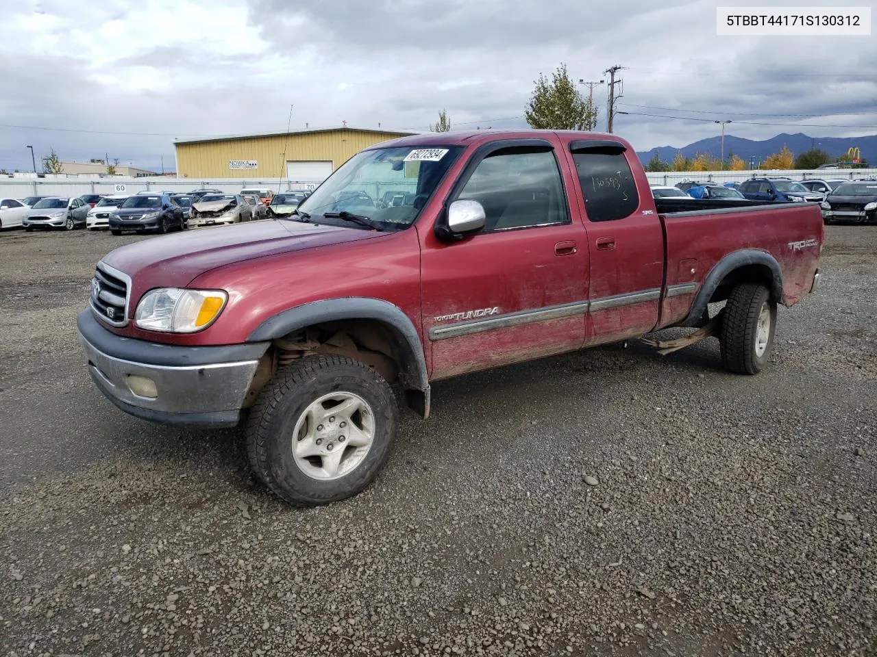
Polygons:
[[290,104],[293,129],[427,130],[440,108],[457,128],[525,126],[560,62],[586,81],[626,67],[615,131],[638,150],[717,134],[714,119],[756,139],[877,133],[874,36],[719,37],[729,4],[767,3],[0,0],[0,168],[30,169],[33,145],[38,166],[54,148],[171,170],[174,138],[285,131]]

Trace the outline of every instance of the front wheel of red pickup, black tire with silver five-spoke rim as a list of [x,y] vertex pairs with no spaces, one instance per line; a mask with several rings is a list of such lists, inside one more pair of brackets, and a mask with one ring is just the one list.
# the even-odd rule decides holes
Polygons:
[[246,427],[253,471],[278,496],[313,506],[349,498],[389,458],[398,407],[387,381],[352,358],[311,356],[275,374]]

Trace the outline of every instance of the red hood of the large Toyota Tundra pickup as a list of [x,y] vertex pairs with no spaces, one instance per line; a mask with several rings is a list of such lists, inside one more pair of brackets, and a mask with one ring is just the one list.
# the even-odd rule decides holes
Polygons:
[[384,234],[288,221],[239,223],[127,244],[104,256],[103,262],[131,276],[134,287],[145,291],[154,286],[186,286],[222,265]]

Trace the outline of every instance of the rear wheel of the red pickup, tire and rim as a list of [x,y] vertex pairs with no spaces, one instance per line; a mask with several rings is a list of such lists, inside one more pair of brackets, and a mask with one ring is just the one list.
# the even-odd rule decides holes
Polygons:
[[774,350],[775,334],[776,303],[766,286],[744,283],[731,290],[719,338],[724,369],[735,374],[758,374]]

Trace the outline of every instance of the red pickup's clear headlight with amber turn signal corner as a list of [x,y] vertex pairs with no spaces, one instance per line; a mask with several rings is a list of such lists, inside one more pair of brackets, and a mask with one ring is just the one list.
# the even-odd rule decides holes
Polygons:
[[222,290],[160,287],[143,295],[134,314],[140,329],[194,333],[206,329],[222,312],[228,294]]

